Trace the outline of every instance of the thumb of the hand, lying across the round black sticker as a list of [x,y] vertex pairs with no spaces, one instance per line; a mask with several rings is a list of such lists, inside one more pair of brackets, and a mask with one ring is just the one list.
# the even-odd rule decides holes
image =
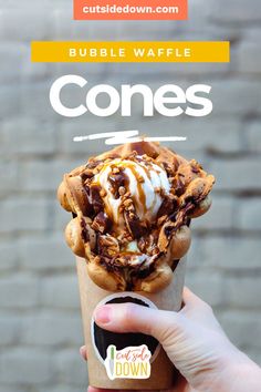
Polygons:
[[180,329],[184,316],[134,303],[103,305],[95,309],[95,322],[113,332],[142,332],[163,342]]

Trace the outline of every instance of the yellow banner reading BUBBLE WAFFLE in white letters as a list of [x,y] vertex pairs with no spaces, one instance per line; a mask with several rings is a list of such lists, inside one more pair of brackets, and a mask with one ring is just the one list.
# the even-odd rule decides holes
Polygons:
[[32,62],[222,63],[230,61],[228,41],[58,42],[33,41]]

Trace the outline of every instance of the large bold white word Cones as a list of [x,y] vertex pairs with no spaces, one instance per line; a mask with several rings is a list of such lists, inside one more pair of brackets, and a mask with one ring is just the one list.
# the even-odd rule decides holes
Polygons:
[[[146,84],[123,84],[119,91],[109,84],[97,84],[86,91],[85,102],[79,106],[69,107],[62,102],[61,92],[67,85],[75,84],[79,89],[85,89],[87,83],[79,75],[59,78],[50,89],[50,102],[53,110],[65,117],[79,117],[86,112],[107,117],[118,111],[122,116],[130,116],[134,95],[142,96],[145,117],[154,116],[155,112],[167,117],[181,114],[201,117],[210,114],[213,109],[208,97],[211,86],[207,84],[194,84],[186,91],[176,84],[165,84],[155,92]],[[106,104],[101,106],[98,97],[105,99]]]

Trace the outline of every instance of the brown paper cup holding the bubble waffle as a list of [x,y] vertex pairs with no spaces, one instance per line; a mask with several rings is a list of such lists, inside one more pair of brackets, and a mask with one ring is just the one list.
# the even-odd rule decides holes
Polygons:
[[[93,311],[98,303],[126,301],[164,310],[179,310],[181,307],[186,260],[181,259],[178,262],[170,285],[156,293],[129,291],[111,292],[103,290],[90,279],[86,260],[76,257],[76,262],[84,338],[87,348],[90,385],[116,390],[164,390],[174,386],[178,379],[178,372],[160,344],[154,338],[142,333],[119,334],[105,331],[94,322]],[[157,320],[152,320],[152,322],[157,322]],[[116,350],[125,350],[125,348],[128,347],[140,348],[143,344],[146,344],[152,353],[152,358],[148,361],[150,368],[149,376],[146,373],[148,368],[143,365],[143,368],[136,368],[138,374],[136,372],[136,378],[130,379],[129,376],[133,376],[133,372],[129,372],[129,363],[115,363]],[[111,345],[114,345],[114,348]],[[109,350],[112,350],[112,354]],[[105,361],[106,355],[108,355],[108,359]],[[130,364],[130,367],[133,365]],[[111,373],[107,368],[112,369]],[[116,378],[114,378],[115,374]],[[140,376],[146,378],[142,379]]]

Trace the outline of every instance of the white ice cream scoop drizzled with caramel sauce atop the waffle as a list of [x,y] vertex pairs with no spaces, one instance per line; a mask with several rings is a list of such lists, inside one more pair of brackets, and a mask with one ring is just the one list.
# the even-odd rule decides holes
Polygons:
[[[113,218],[114,223],[121,225],[119,206],[122,196],[116,194],[112,184],[122,179],[125,192],[129,193],[136,213],[140,220],[154,220],[157,212],[163,203],[164,194],[168,194],[170,189],[169,180],[166,172],[153,162],[145,162],[140,156],[137,161],[130,159],[112,159],[106,163],[93,182],[98,184],[106,192],[103,197],[105,212]],[[118,175],[118,178],[117,178]],[[160,192],[163,190],[163,192]]]

